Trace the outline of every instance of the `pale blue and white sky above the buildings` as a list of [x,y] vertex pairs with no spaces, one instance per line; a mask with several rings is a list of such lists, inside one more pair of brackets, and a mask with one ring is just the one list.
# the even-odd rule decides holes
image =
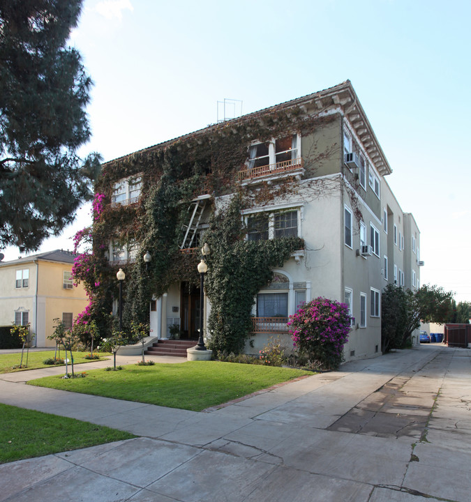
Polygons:
[[[350,79],[421,231],[421,284],[471,301],[469,0],[84,0],[70,43],[94,79],[105,160]],[[77,223],[40,251],[72,249]],[[15,259],[18,250],[3,250]]]

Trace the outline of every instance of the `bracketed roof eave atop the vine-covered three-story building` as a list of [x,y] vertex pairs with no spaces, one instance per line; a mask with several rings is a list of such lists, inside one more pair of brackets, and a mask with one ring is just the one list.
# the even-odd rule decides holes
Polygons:
[[306,114],[322,113],[330,107],[341,107],[343,109],[343,114],[347,116],[347,118],[350,120],[350,123],[352,123],[357,136],[361,139],[361,142],[363,142],[366,150],[368,151],[368,155],[370,155],[370,158],[373,160],[373,162],[375,162],[375,167],[378,169],[380,174],[382,176],[391,174],[392,169],[389,166],[389,162],[387,161],[386,156],[381,149],[380,143],[377,141],[373,128],[371,127],[371,124],[366,117],[363,107],[361,107],[359,99],[357,98],[357,94],[355,93],[350,80],[345,80],[345,82],[342,82],[341,84],[329,87],[328,89],[324,89],[316,93],[307,94],[306,96],[302,96],[301,98],[285,101],[280,103],[279,105],[261,109],[258,112],[243,115],[235,119],[224,121],[222,123],[213,124],[195,132],[190,132],[186,135],[182,135],[174,139],[169,139],[163,143],[158,143],[154,146],[148,146],[147,148],[129,153],[127,155],[123,155],[122,157],[110,160],[109,162],[105,162],[104,165],[115,162],[116,160],[122,160],[124,158],[130,157],[130,155],[134,155],[135,153],[144,153],[163,149],[166,146],[170,146],[174,142],[197,137],[198,135],[211,132],[212,130],[216,131],[219,128],[226,128],[228,126],[237,127],[238,124],[244,123],[244,121],[257,119],[264,114],[278,112],[283,109],[289,109],[292,107],[301,107],[301,109],[303,109]]

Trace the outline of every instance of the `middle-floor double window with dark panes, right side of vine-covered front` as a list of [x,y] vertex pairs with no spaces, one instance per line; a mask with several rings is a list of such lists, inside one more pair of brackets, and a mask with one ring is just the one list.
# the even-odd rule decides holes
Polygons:
[[299,209],[253,213],[246,216],[247,240],[263,241],[299,235]]

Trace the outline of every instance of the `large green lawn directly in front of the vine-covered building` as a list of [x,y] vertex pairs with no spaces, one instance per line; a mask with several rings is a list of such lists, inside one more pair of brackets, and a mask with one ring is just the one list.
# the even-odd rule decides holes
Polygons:
[[29,381],[29,385],[201,411],[305,375],[306,372],[291,368],[188,361],[126,365],[116,372],[91,370],[86,378],[45,377]]

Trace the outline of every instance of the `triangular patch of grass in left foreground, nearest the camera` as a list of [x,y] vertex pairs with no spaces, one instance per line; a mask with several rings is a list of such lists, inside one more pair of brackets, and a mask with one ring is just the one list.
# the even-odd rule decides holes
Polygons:
[[0,464],[135,437],[74,418],[0,404]]

